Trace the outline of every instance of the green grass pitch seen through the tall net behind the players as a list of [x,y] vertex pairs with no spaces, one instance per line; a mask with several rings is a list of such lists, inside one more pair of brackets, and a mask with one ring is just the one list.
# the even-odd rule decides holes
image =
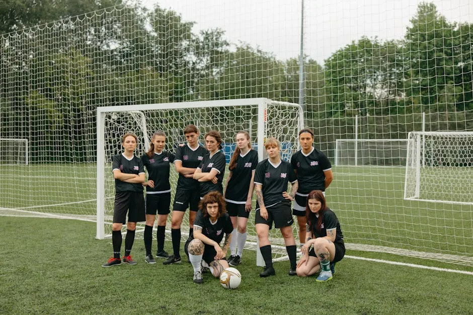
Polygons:
[[[108,171],[106,215],[111,216],[114,183]],[[402,167],[338,166],[333,171],[327,201],[347,243],[473,257],[471,205],[404,200]],[[95,164],[2,165],[0,207],[93,219],[96,173]]]

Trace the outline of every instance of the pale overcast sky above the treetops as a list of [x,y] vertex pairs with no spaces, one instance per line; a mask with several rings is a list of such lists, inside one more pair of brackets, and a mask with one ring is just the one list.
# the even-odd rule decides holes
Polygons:
[[[298,57],[301,0],[142,0],[151,7],[196,22],[195,31],[220,28],[231,43],[240,41],[274,53]],[[361,36],[400,39],[420,0],[304,0],[304,53],[323,62]],[[449,21],[473,23],[473,0],[433,0]]]

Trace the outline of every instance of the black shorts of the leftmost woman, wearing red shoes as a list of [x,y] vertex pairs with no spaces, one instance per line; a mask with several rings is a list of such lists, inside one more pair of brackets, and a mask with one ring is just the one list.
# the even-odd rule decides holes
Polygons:
[[122,191],[115,193],[113,223],[125,224],[127,212],[128,222],[146,221],[143,192]]

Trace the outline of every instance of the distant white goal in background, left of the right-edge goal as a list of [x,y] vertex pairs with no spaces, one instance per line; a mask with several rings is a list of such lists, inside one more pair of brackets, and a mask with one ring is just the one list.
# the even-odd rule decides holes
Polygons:
[[407,139],[337,139],[335,165],[405,166]]

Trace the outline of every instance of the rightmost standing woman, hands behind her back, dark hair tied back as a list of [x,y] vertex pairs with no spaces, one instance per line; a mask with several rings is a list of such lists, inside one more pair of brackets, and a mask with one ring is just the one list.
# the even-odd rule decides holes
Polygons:
[[305,238],[305,203],[311,190],[325,191],[332,182],[332,164],[327,156],[313,147],[313,132],[308,128],[299,131],[301,150],[291,157],[291,165],[297,175],[299,188],[293,202],[292,214],[297,217],[299,240],[304,245]]

